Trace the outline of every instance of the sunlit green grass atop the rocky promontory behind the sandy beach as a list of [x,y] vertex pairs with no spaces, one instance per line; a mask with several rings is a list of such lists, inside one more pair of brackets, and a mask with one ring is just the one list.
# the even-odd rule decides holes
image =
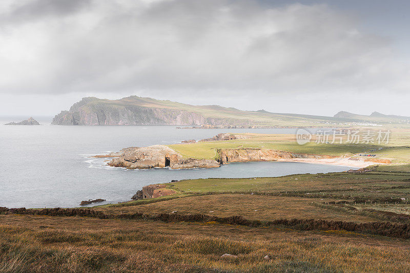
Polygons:
[[[316,143],[315,135],[310,143],[299,145],[293,134],[243,134],[248,139],[197,142],[193,144],[169,145],[185,157],[215,159],[217,149],[265,148],[297,153],[352,156],[357,153],[376,154],[380,158],[391,158],[394,163],[410,162],[410,131],[395,131],[388,144],[385,143]],[[346,137],[344,137],[346,138]],[[382,148],[381,150],[377,150]]]

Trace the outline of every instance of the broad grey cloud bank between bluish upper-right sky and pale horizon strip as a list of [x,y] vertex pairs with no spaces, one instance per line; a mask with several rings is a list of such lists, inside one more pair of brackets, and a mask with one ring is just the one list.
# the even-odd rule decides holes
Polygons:
[[394,60],[390,41],[361,31],[355,18],[326,5],[266,7],[228,0],[14,5],[1,15],[14,19],[0,27],[0,93],[149,90],[207,96],[408,87],[408,67]]

